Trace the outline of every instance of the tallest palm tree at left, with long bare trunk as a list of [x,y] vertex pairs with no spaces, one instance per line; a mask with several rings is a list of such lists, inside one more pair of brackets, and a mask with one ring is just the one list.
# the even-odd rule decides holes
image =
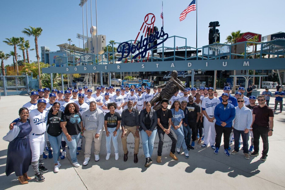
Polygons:
[[42,34],[42,28],[38,27],[31,27],[30,28],[24,28],[22,31],[27,36],[34,36],[35,37],[35,49],[37,54],[37,60],[38,60],[38,70],[39,70],[39,87],[42,88],[42,81],[41,81],[41,70],[40,70],[40,57],[39,57],[39,48],[38,48],[38,38]]

